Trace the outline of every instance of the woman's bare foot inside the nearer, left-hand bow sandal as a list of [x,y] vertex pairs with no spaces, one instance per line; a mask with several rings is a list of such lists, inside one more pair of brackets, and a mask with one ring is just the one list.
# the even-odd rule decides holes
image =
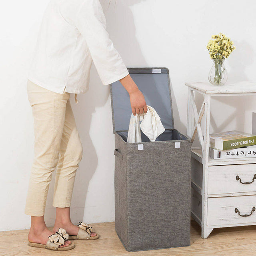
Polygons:
[[[57,231],[57,230],[56,230]],[[55,233],[55,231],[53,231]],[[30,231],[28,233],[28,241],[32,243],[38,243],[38,244],[46,244],[48,241],[48,236],[54,234],[52,231],[48,230],[46,226],[41,227],[32,227],[30,228]],[[60,247],[66,247],[71,244],[71,241],[65,241],[65,244]]]

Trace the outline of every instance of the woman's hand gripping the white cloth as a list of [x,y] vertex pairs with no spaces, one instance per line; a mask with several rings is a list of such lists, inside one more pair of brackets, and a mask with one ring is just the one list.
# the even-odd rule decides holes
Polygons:
[[136,114],[142,114],[143,111],[145,113],[148,111],[144,95],[139,89],[135,92],[130,93],[130,103],[132,108],[132,114],[134,114],[134,116]]

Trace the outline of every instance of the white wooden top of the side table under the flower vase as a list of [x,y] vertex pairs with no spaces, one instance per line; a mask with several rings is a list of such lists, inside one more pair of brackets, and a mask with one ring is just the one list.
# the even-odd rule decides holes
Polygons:
[[212,85],[210,82],[186,82],[186,86],[205,94],[256,93],[256,82],[227,82],[224,85]]

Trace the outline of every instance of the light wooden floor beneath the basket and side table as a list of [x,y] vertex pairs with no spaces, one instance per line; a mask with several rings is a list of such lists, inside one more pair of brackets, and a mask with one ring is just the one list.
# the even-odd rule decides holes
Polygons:
[[191,246],[142,252],[127,252],[114,230],[114,222],[92,224],[100,234],[98,240],[73,241],[76,247],[67,252],[55,252],[27,245],[29,230],[0,232],[1,256],[254,256],[256,226],[218,228],[207,239],[200,236],[201,228],[191,221]]

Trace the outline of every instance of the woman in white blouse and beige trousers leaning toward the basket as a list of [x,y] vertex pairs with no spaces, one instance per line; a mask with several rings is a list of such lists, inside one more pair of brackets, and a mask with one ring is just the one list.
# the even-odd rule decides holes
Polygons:
[[[51,0],[42,20],[27,84],[35,134],[25,207],[25,214],[31,216],[30,246],[70,250],[74,243],[67,240],[68,235],[82,240],[99,237],[87,224],[81,222],[77,226],[70,220],[82,145],[69,98],[70,93],[76,99],[76,94],[88,90],[92,61],[104,85],[121,82],[130,94],[134,115],[147,112],[142,92],[109,39],[99,0]],[[44,222],[44,211],[55,168],[56,220],[51,232]]]

